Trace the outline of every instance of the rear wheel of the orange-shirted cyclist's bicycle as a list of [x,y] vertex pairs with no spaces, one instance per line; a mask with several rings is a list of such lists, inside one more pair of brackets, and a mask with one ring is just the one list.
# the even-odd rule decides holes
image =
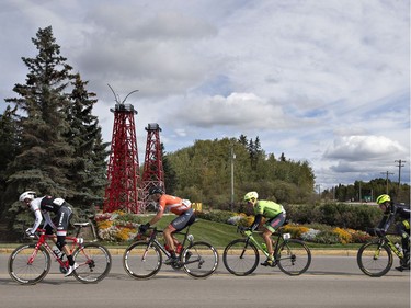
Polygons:
[[183,251],[180,261],[190,276],[206,278],[217,270],[218,252],[207,242],[194,242]]

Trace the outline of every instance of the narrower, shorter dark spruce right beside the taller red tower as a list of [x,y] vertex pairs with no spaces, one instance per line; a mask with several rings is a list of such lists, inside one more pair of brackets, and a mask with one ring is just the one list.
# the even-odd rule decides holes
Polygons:
[[73,76],[71,83],[71,103],[66,109],[69,129],[65,134],[75,151],[68,174],[73,187],[70,202],[81,209],[80,215],[89,215],[103,202],[109,144],[103,142],[98,117],[92,115],[98,102],[95,93],[87,91],[88,82],[81,80],[80,73]]

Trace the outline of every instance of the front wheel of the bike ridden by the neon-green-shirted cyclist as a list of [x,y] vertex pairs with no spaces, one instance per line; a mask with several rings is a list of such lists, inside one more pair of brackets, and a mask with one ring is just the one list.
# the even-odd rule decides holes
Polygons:
[[236,276],[247,276],[259,265],[260,254],[256,247],[246,239],[230,242],[222,252],[222,262],[227,271]]

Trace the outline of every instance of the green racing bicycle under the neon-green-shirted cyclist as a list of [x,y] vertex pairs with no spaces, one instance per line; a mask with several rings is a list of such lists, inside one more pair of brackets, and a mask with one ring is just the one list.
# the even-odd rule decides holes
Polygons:
[[[237,227],[242,239],[236,239],[227,244],[222,253],[222,262],[228,272],[236,276],[247,276],[253,273],[259,265],[260,253],[269,256],[265,244],[261,244],[254,237],[253,231]],[[289,233],[284,233],[279,228],[274,244],[273,267],[278,265],[279,270],[287,275],[296,276],[305,273],[311,264],[311,251],[305,242],[292,239]]]

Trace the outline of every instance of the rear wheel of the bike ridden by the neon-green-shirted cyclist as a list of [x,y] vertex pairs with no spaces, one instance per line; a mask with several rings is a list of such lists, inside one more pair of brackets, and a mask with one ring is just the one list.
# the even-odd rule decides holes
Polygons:
[[305,242],[289,239],[281,244],[276,261],[283,273],[297,276],[305,273],[310,266],[311,251]]

